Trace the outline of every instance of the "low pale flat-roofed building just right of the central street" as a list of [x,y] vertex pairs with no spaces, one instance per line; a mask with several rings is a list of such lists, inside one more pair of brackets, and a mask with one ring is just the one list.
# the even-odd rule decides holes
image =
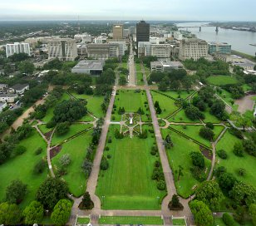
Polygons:
[[170,72],[173,70],[184,69],[180,61],[152,61],[150,62],[151,71]]

